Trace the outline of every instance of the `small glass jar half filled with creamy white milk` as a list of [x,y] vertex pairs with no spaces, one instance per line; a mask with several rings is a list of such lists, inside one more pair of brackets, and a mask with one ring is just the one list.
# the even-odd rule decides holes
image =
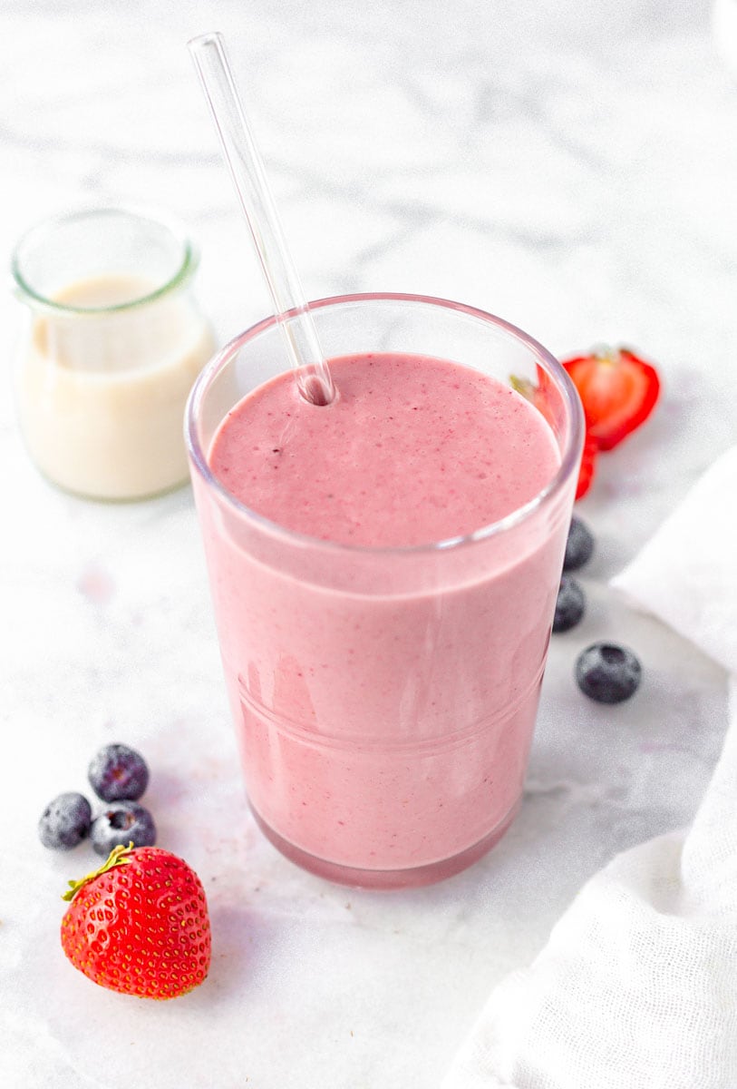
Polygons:
[[184,407],[214,347],[190,290],[197,265],[178,225],[122,208],[60,216],[21,238],[18,414],[49,480],[102,500],[185,482]]

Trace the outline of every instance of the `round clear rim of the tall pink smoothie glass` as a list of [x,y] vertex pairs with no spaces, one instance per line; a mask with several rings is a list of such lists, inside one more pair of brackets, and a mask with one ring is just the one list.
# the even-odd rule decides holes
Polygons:
[[[546,484],[540,491],[534,495],[530,500],[524,503],[522,506],[515,507],[504,517],[498,518],[496,522],[488,523],[485,526],[480,526],[478,529],[474,529],[470,534],[462,534],[457,537],[448,537],[439,541],[430,541],[428,543],[422,544],[399,544],[399,546],[370,546],[370,544],[348,544],[340,541],[326,540],[322,537],[312,537],[309,534],[300,533],[296,529],[289,529],[286,526],[280,525],[278,522],[273,522],[263,514],[259,514],[257,511],[251,510],[245,503],[241,503],[239,499],[233,495],[227,488],[215,477],[210,465],[208,464],[207,454],[202,450],[199,437],[197,435],[197,420],[200,414],[200,406],[207,394],[211,381],[220,374],[221,369],[225,364],[233,358],[233,356],[240,351],[240,348],[248,341],[253,340],[255,337],[261,335],[265,330],[274,328],[278,321],[279,317],[277,315],[271,315],[267,318],[263,318],[255,325],[250,326],[242,333],[239,333],[233,340],[228,341],[212,359],[205,364],[200,374],[195,380],[195,383],[189,392],[187,399],[187,405],[185,408],[185,443],[187,446],[187,453],[189,458],[200,477],[203,479],[209,488],[212,488],[215,493],[225,501],[225,503],[232,507],[236,513],[246,517],[247,521],[253,523],[257,527],[268,531],[273,536],[282,539],[291,544],[297,544],[302,548],[304,547],[320,547],[326,550],[333,550],[337,553],[349,553],[354,555],[423,555],[432,554],[434,552],[447,552],[455,551],[464,546],[476,544],[480,541],[488,540],[499,534],[505,533],[523,522],[526,522],[537,510],[546,505],[549,501],[558,495],[563,487],[569,481],[571,474],[577,466],[578,458],[580,456],[580,451],[584,444],[584,432],[585,432],[585,420],[584,411],[580,404],[580,399],[576,392],[576,388],[573,384],[571,378],[566,374],[565,369],[561,363],[548,352],[538,341],[536,341],[528,333],[525,333],[522,329],[513,326],[511,322],[505,321],[503,318],[499,318],[494,314],[489,314],[486,310],[482,310],[474,306],[469,306],[464,303],[455,303],[448,298],[438,298],[432,295],[416,295],[408,294],[401,292],[361,292],[350,295],[330,295],[325,298],[318,298],[308,303],[308,307],[311,310],[318,310],[328,306],[345,305],[350,303],[385,303],[385,302],[399,302],[399,303],[411,303],[411,304],[423,304],[426,306],[440,307],[446,310],[454,310],[460,314],[464,314],[471,318],[483,321],[484,323],[490,323],[503,332],[512,337],[514,340],[520,341],[525,347],[529,348],[533,356],[541,358],[546,365],[550,368],[551,377],[557,384],[557,388],[563,396],[563,401],[566,405],[569,412],[569,418],[571,420],[571,427],[567,435],[565,445],[561,454],[561,462],[558,466],[555,474]],[[296,315],[296,310],[289,310],[285,314],[284,318],[290,318]],[[285,371],[287,372],[287,371]]]

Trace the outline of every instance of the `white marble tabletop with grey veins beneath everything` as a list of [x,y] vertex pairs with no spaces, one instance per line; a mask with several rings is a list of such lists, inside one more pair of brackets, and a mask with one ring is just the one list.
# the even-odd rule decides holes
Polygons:
[[[70,207],[163,206],[201,243],[221,341],[270,307],[185,49],[217,28],[311,297],[423,292],[560,354],[629,343],[664,399],[580,504],[590,608],[553,641],[516,823],[441,885],[360,893],[248,816],[189,491],[89,504],[28,463],[3,296],[0,1084],[430,1089],[582,882],[689,820],[719,751],[724,675],[607,580],[737,439],[737,82],[705,0],[4,0],[0,248]],[[571,676],[600,637],[645,665],[615,710]],[[113,739],[149,757],[160,842],[211,903],[211,976],[173,1003],[97,989],[59,946],[90,855],[51,856],[37,818]]]

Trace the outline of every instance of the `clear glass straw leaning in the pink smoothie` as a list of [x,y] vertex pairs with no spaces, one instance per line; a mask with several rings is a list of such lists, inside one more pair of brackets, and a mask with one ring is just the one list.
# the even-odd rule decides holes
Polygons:
[[313,404],[329,404],[335,397],[333,378],[284,237],[261,154],[238,97],[223,36],[203,34],[192,38],[188,48],[251,230],[299,391]]

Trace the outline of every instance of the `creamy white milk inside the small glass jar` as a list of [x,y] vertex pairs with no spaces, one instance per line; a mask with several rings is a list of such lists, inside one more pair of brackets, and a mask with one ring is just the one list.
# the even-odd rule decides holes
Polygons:
[[138,499],[187,478],[183,416],[213,352],[209,323],[185,294],[100,309],[151,291],[137,278],[98,277],[54,296],[85,313],[34,319],[21,362],[21,425],[38,467],[70,491]]

